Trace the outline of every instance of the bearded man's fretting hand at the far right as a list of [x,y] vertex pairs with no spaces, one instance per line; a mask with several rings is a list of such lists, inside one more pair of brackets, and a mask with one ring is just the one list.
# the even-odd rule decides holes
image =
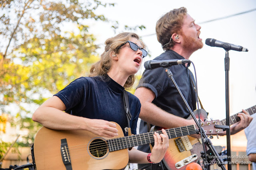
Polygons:
[[241,113],[238,113],[238,117],[241,119],[239,122],[235,123],[230,127],[230,134],[234,135],[240,131],[242,131],[244,128],[246,128],[252,121],[252,116],[245,111],[244,109],[242,110]]

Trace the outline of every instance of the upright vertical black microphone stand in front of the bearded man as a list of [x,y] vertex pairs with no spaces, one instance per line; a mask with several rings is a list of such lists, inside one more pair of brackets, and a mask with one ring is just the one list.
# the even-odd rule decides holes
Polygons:
[[[225,82],[226,82],[226,125],[230,127],[230,111],[229,111],[229,53],[230,47],[225,48]],[[232,170],[231,166],[231,144],[230,144],[230,129],[226,130],[227,136],[227,157],[228,157],[228,170]]]

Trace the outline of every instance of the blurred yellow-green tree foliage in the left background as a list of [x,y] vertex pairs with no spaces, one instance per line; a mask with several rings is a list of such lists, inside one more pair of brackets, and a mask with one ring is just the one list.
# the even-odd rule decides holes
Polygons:
[[[1,133],[9,122],[27,131],[18,145],[31,146],[41,127],[31,119],[32,106],[38,107],[76,78],[88,75],[100,54],[86,23],[112,22],[116,33],[117,21],[96,14],[99,7],[114,5],[98,0],[0,0]],[[74,30],[65,31],[66,25]],[[125,25],[122,30],[144,28]],[[10,145],[0,140],[0,158]]]

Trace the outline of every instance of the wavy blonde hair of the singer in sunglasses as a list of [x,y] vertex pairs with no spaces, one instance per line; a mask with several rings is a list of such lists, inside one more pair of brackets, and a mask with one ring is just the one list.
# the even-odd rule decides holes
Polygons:
[[[140,39],[140,37],[136,33],[120,33],[115,37],[108,38],[105,41],[105,51],[100,56],[100,61],[94,63],[90,69],[89,77],[92,76],[106,76],[112,66],[112,54],[118,54],[120,49],[118,48],[120,45],[130,40],[131,38]],[[144,43],[139,40],[142,44],[142,48],[145,48]],[[135,81],[135,76],[130,75],[124,84],[124,88],[130,88]]]

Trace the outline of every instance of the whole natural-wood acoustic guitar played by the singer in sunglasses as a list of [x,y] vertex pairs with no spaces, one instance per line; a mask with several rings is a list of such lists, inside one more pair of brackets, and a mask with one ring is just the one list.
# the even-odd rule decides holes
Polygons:
[[[213,134],[219,120],[209,121],[204,128]],[[128,148],[154,142],[154,132],[124,137],[116,123],[118,136],[103,138],[89,131],[53,130],[42,127],[34,141],[34,162],[37,170],[102,170],[121,169],[128,163]],[[156,131],[161,134],[162,131]],[[169,139],[196,133],[195,125],[166,129]]]

